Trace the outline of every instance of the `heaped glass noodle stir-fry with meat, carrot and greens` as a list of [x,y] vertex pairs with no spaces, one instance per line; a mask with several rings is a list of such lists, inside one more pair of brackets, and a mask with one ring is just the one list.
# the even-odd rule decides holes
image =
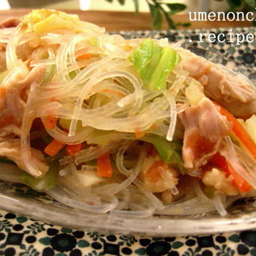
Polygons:
[[[34,10],[0,33],[0,178],[74,208],[142,217],[225,215],[234,200],[254,194],[255,160],[232,130],[232,114],[220,114],[182,66],[194,55],[179,44],[126,40],[54,10]],[[194,132],[200,152],[189,156],[203,160],[191,166],[185,136],[203,116],[220,132],[210,150],[202,145],[207,135],[201,141]],[[254,117],[234,123],[250,130]]]

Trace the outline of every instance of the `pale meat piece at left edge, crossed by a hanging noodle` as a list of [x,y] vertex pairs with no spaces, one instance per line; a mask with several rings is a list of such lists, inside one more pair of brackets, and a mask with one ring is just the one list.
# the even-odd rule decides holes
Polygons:
[[[18,67],[0,84],[0,156],[13,160],[26,171],[20,143],[22,118],[30,85],[40,83],[45,71],[45,66],[36,66],[30,72]],[[38,170],[42,174],[47,172],[43,154],[34,148],[31,148],[31,154]]]

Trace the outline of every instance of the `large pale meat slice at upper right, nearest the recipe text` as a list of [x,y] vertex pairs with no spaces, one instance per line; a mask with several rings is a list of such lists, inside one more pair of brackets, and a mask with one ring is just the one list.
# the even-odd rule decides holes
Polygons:
[[242,75],[228,72],[224,67],[199,56],[183,60],[182,66],[204,86],[207,97],[220,103],[236,117],[256,113],[256,90]]

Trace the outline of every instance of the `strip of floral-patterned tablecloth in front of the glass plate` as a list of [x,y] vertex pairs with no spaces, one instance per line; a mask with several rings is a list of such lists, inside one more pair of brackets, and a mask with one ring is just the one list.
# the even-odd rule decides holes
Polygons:
[[0,255],[256,255],[256,230],[186,237],[101,234],[53,226],[1,210]]

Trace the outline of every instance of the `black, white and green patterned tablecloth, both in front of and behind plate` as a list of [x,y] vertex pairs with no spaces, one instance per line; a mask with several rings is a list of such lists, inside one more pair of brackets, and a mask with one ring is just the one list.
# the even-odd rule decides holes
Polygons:
[[[198,33],[218,34],[224,42],[198,42]],[[167,37],[171,42],[180,41],[186,48],[209,56],[226,65],[232,60],[241,71],[255,70],[256,41],[236,44],[227,42],[228,34],[252,33],[254,28],[218,29],[218,30],[170,30],[120,32],[126,38]],[[251,79],[255,74],[251,73]],[[79,220],[78,220],[79,221]],[[6,256],[96,256],[96,255],[149,255],[149,256],[256,256],[256,231],[222,234],[204,234],[186,237],[140,237],[121,234],[100,234],[74,230],[63,226],[54,226],[26,216],[0,210],[0,255]]]

